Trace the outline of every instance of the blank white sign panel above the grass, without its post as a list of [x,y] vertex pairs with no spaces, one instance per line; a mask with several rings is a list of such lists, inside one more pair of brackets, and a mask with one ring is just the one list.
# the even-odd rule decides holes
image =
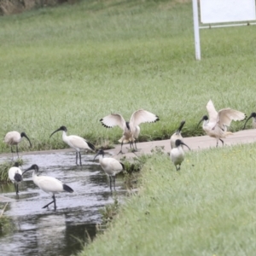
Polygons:
[[201,0],[201,23],[256,20],[255,0]]

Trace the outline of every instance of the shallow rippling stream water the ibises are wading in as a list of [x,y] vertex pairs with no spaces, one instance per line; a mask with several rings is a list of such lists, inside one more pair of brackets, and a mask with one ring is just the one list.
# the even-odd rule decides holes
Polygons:
[[[0,197],[9,201],[5,214],[12,218],[15,229],[0,236],[0,255],[44,255],[66,256],[78,253],[88,241],[96,236],[98,224],[102,222],[99,210],[113,203],[108,177],[102,172],[94,155],[83,155],[83,166],[75,166],[74,153],[30,154],[22,157],[26,169],[32,164],[39,166],[40,175],[60,179],[73,188],[74,193],[55,195],[56,212],[53,205],[42,209],[52,201],[50,195],[38,189],[32,182],[32,172],[26,172],[20,185],[20,196],[16,197],[13,183],[0,187]],[[119,201],[125,197],[122,177],[116,178]],[[3,207],[3,198],[1,202]]]

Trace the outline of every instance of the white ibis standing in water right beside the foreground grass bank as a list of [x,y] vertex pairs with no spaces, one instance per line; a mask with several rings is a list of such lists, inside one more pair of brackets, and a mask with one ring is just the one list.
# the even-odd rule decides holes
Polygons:
[[[96,157],[100,155],[100,165],[102,166],[103,171],[108,175],[109,177],[109,187],[112,191],[112,181],[113,181],[113,189],[115,190],[115,176],[119,173],[125,170],[125,166],[119,162],[119,160],[116,160],[111,157],[104,157],[104,150],[99,149],[97,152],[94,160]],[[113,179],[113,180],[112,180]]]

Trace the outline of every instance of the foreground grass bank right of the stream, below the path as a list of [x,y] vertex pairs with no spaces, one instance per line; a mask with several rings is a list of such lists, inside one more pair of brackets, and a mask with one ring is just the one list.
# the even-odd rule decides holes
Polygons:
[[154,154],[104,236],[82,255],[253,255],[255,144],[187,154],[180,172]]

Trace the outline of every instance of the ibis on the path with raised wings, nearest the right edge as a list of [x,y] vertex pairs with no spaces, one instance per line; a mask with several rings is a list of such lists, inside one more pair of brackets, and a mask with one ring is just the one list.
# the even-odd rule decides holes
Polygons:
[[227,127],[230,126],[232,120],[241,121],[246,118],[245,113],[231,108],[223,108],[217,112],[211,100],[207,103],[207,112],[209,118],[204,115],[198,125],[203,121],[203,130],[206,131],[208,136],[216,138],[216,147],[218,147],[218,140],[224,145],[222,138],[232,134],[232,132],[227,131]]

